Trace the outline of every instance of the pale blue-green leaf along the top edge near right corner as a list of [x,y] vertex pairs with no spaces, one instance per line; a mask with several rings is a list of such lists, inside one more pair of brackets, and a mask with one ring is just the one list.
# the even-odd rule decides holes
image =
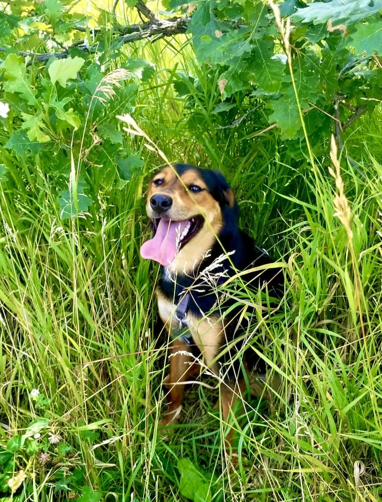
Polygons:
[[364,20],[372,14],[377,14],[382,9],[382,0],[331,0],[331,2],[310,3],[303,9],[297,9],[293,19],[302,23],[326,23],[331,20],[332,24],[341,22],[352,25],[357,21]]

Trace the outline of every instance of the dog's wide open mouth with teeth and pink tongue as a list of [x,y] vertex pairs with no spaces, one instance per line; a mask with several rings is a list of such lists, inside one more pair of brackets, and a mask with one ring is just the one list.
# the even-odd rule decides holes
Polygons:
[[196,235],[203,221],[202,216],[193,216],[183,221],[155,218],[153,238],[141,247],[142,258],[155,260],[166,267],[174,260],[180,249]]

